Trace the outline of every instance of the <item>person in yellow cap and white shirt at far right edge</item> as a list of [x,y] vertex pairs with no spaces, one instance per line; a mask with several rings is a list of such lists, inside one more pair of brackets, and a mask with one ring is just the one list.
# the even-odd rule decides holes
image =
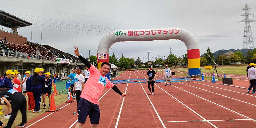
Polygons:
[[248,69],[248,78],[250,79],[251,84],[247,90],[247,93],[249,93],[253,87],[252,94],[255,94],[255,90],[256,90],[256,88],[255,88],[255,86],[256,86],[256,68],[254,67],[254,65],[256,65],[256,64],[250,63],[251,68]]

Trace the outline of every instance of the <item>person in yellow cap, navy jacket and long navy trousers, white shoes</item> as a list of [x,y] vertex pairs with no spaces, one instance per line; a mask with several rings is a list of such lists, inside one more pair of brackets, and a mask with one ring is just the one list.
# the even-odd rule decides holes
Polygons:
[[41,71],[40,68],[36,68],[34,75],[30,76],[26,81],[26,90],[33,92],[35,99],[35,109],[33,111],[34,113],[42,111],[39,108],[42,95],[42,84],[44,84],[44,79],[40,76],[42,72],[43,71]]

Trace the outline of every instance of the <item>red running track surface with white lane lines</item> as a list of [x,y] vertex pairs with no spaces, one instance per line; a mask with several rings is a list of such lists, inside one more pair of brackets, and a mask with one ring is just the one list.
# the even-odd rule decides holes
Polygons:
[[[146,71],[126,71],[118,79],[145,79]],[[157,78],[163,78],[157,73]],[[177,76],[172,76],[177,77]],[[156,83],[155,95],[148,95],[147,83],[116,84],[121,92],[130,93],[123,98],[112,89],[102,92],[100,105],[100,128],[162,128],[162,127],[255,127],[256,95],[245,93],[246,89],[200,82],[172,82],[172,86]],[[104,95],[105,94],[105,95]],[[66,105],[63,103],[58,108]],[[121,108],[121,109],[120,109]],[[30,128],[74,128],[77,115],[76,102],[54,113],[43,113],[28,123]],[[71,126],[74,124],[73,126]],[[89,128],[90,119],[84,124]]]

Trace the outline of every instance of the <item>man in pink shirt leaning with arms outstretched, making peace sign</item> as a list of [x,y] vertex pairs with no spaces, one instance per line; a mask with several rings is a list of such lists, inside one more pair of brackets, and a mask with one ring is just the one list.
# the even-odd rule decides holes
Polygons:
[[84,84],[84,89],[78,104],[79,111],[76,128],[83,127],[87,115],[90,117],[92,128],[98,128],[98,124],[100,123],[100,108],[98,100],[103,89],[112,88],[115,92],[123,97],[129,94],[120,92],[116,85],[112,84],[105,77],[111,68],[111,65],[108,62],[103,62],[101,64],[100,70],[98,70],[97,68],[93,67],[93,65],[91,65],[87,59],[80,55],[77,47],[75,47],[74,53],[90,71],[90,77]]

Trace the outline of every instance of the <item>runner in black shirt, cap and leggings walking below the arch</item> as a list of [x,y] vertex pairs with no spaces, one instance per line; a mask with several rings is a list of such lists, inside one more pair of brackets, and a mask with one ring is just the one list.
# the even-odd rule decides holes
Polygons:
[[[155,75],[156,72],[154,70],[152,70],[153,66],[150,65],[149,66],[149,70],[147,72],[147,82],[148,82],[148,90],[149,90],[149,95],[154,95],[154,84],[155,84]],[[150,88],[150,84],[152,87],[152,92],[151,92],[151,88]]]

